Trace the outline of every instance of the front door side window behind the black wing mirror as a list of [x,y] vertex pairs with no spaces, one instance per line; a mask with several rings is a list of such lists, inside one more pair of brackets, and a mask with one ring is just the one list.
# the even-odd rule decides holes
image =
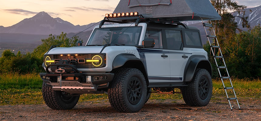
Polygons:
[[146,38],[155,40],[155,46],[153,48],[163,48],[161,30],[147,28],[145,39]]

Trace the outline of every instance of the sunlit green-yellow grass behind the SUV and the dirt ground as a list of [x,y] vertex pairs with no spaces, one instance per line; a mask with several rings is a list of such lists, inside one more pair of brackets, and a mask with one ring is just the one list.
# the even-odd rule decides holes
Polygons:
[[[212,79],[213,93],[212,100],[219,100],[219,97],[225,97],[221,80]],[[259,79],[233,79],[237,97],[261,97],[261,80]],[[229,82],[225,81],[226,87]],[[42,99],[42,80],[38,73],[19,75],[17,73],[0,73],[0,105],[17,104],[44,104]],[[175,92],[180,92],[175,89]],[[232,92],[228,92],[232,94]],[[79,102],[103,103],[108,102],[106,94],[82,94]],[[150,100],[166,99],[179,100],[182,94],[157,94],[152,93]],[[225,98],[224,98],[225,100]],[[175,101],[174,101],[175,102]]]

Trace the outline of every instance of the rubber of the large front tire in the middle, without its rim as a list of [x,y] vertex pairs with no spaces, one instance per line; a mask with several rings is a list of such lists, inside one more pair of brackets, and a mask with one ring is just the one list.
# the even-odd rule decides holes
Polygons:
[[[127,83],[131,75],[138,75],[142,85],[142,97],[139,103],[133,105],[127,99]],[[134,113],[141,110],[147,95],[147,85],[144,75],[140,70],[135,68],[121,68],[115,72],[114,80],[110,83],[108,88],[108,98],[111,106],[118,112]]]

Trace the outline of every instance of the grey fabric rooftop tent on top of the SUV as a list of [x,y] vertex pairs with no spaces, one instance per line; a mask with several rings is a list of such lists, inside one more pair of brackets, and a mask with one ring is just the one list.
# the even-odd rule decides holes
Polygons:
[[221,19],[209,0],[120,0],[113,13],[123,12],[175,21]]

